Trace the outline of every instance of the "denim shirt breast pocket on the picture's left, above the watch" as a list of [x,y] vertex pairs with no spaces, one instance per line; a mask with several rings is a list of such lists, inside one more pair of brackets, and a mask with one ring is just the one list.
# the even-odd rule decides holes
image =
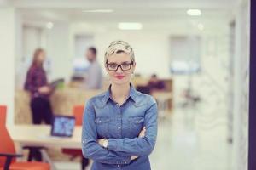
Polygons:
[[109,117],[96,117],[95,122],[96,122],[96,130],[98,133],[98,137],[100,139],[108,138],[110,118]]

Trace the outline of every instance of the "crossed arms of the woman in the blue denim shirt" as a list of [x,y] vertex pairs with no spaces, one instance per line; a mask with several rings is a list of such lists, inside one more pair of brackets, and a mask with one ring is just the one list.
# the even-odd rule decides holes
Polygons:
[[[128,164],[137,156],[148,156],[157,135],[157,106],[154,102],[145,113],[145,127],[134,139],[97,139],[95,111],[88,101],[84,110],[82,150],[84,157],[108,164]],[[107,148],[102,147],[107,142]]]

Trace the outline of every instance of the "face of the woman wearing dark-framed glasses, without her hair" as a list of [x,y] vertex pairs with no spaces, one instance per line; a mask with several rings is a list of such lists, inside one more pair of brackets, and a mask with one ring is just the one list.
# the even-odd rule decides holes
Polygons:
[[[117,65],[122,65],[123,70],[121,66],[118,66],[116,70]],[[105,65],[105,68],[111,83],[122,85],[131,81],[131,74],[133,73],[135,66],[135,62],[131,65],[131,57],[129,54],[119,53],[108,57],[108,63]]]

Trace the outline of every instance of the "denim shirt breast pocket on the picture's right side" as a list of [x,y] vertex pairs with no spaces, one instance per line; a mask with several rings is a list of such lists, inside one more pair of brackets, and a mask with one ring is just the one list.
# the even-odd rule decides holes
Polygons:
[[129,117],[129,131],[134,138],[139,135],[144,126],[144,117]]

